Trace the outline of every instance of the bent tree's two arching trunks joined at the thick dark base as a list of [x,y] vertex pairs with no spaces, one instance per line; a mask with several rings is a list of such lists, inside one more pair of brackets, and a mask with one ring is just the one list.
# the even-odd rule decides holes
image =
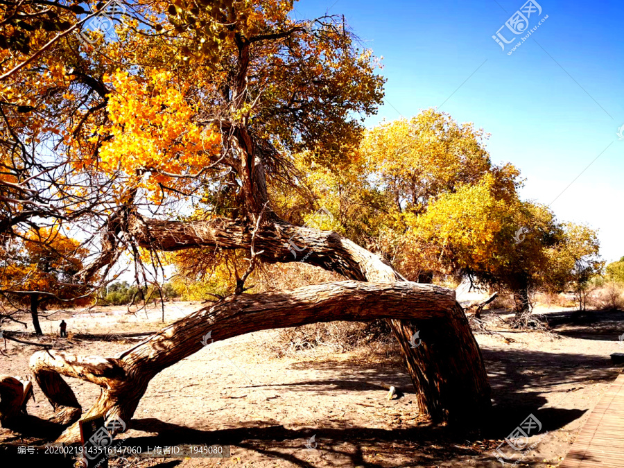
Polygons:
[[[252,243],[252,229],[242,220],[212,219],[185,223],[145,220],[134,214],[130,216],[126,229],[128,235],[132,236],[138,245],[164,251],[199,247],[249,249]],[[427,313],[426,309],[423,310],[422,304],[417,306],[408,300],[404,302],[404,298],[398,302],[386,302],[388,292],[376,295],[374,301],[365,300],[361,295],[353,295],[352,299],[355,302],[349,303],[355,308],[353,310],[368,312],[365,315],[358,315],[357,319],[349,319],[351,312],[341,309],[343,304],[336,298],[331,301],[315,299],[313,302],[316,305],[323,302],[322,307],[314,309],[313,318],[307,317],[302,320],[300,315],[293,315],[293,307],[306,309],[313,304],[303,304],[291,299],[291,302],[282,308],[274,300],[263,302],[261,299],[291,297],[293,294],[296,296],[297,292],[239,295],[210,309],[202,309],[189,315],[121,356],[105,360],[94,358],[96,365],[87,366],[88,372],[85,370],[85,364],[76,358],[65,358],[55,354],[55,358],[51,359],[48,354],[42,353],[33,356],[33,371],[35,374],[41,374],[43,371],[60,372],[99,385],[105,382],[101,398],[85,417],[112,411],[112,415],[127,421],[143,395],[148,381],[164,367],[200,349],[201,340],[198,338],[201,338],[201,333],[212,330],[214,339],[225,339],[264,328],[293,327],[323,320],[365,320],[383,317],[388,319],[392,331],[401,344],[404,361],[416,388],[419,410],[431,415],[434,420],[449,422],[468,420],[471,426],[483,419],[484,413],[491,405],[487,374],[468,321],[462,308],[454,300],[454,291],[432,285],[404,282],[404,279],[379,257],[338,236],[335,232],[320,232],[271,220],[270,223],[261,225],[255,233],[254,249],[262,250],[261,259],[270,263],[305,259],[306,263],[339,272],[358,281],[379,281],[387,285],[385,288],[393,288],[392,291],[401,291],[401,288],[410,288],[413,291],[439,291],[442,296],[447,297],[447,300],[444,307],[436,309],[437,313],[433,314]],[[83,275],[89,274],[87,268]],[[365,288],[363,284],[356,285],[358,288]],[[297,291],[315,291],[315,294],[321,294],[323,288],[332,287],[336,286],[332,284],[309,286],[308,289],[302,288]],[[370,287],[376,288],[374,284]],[[250,316],[245,315],[244,319],[236,320],[236,327],[226,331],[221,322],[217,324],[213,320],[206,324],[202,319],[206,315],[217,313],[220,308],[232,304],[247,304],[247,301],[253,303],[257,300],[266,305],[261,317],[270,317],[270,320],[260,320],[257,316],[254,316],[253,320],[248,320]],[[379,306],[382,308],[379,309]],[[409,309],[407,314],[406,306]],[[244,307],[239,306],[237,309],[244,310]],[[327,316],[328,312],[331,312],[331,315]],[[174,332],[173,329],[191,330],[189,333],[192,333],[192,340],[186,338],[187,334]],[[184,338],[180,340],[180,337]],[[157,346],[154,346],[154,343],[157,343]],[[149,356],[157,356],[157,364]],[[111,381],[112,377],[109,375],[116,372],[125,377]],[[51,401],[58,403],[55,399]],[[71,440],[76,434],[74,425],[62,436],[62,440]]]

